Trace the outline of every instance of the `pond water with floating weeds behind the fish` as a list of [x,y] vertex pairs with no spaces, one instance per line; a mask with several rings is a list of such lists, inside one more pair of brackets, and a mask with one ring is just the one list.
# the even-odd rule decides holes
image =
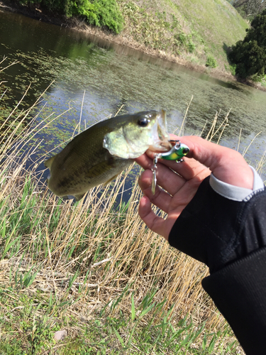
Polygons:
[[[237,82],[216,80],[209,75],[152,58],[120,45],[96,40],[86,33],[35,21],[16,13],[0,12],[0,58],[8,65],[0,72],[0,123],[31,84],[21,108],[31,107],[39,95],[43,102],[35,124],[50,115],[61,116],[39,133],[40,153],[53,150],[72,136],[81,119],[81,129],[120,113],[146,109],[167,111],[168,131],[182,125],[185,134],[209,131],[216,111],[216,127],[228,116],[221,144],[243,153],[260,133],[245,158],[256,167],[265,152],[266,92]],[[2,64],[4,66],[4,63]],[[68,110],[67,112],[65,112]],[[82,112],[81,112],[82,111]],[[241,135],[240,135],[241,131]],[[216,141],[218,136],[214,138]],[[40,154],[40,155],[42,155]],[[50,153],[52,155],[52,153]],[[35,155],[38,159],[38,155]],[[43,166],[43,165],[42,165]],[[260,170],[266,179],[265,165]]]

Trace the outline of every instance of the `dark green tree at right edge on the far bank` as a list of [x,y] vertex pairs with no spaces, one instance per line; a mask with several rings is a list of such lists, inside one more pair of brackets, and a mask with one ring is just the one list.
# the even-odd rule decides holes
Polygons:
[[254,18],[246,31],[244,40],[233,45],[228,57],[236,64],[238,77],[259,81],[266,74],[266,9]]

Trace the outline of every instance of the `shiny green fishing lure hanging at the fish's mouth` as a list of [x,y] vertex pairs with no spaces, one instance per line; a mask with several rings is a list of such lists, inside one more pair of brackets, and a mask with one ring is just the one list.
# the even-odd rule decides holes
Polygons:
[[155,189],[157,184],[157,177],[156,177],[156,170],[157,170],[157,162],[158,159],[165,159],[165,160],[176,160],[177,163],[182,163],[184,161],[182,158],[189,153],[189,147],[185,144],[181,143],[180,141],[170,141],[175,142],[174,146],[165,153],[157,153],[155,158],[153,159],[153,182],[152,182],[152,192],[155,195]]

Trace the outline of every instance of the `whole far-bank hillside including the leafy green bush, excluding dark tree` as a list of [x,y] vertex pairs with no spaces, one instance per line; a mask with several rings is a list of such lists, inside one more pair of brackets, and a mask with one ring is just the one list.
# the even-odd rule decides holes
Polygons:
[[67,23],[85,31],[89,26],[89,32],[117,43],[223,72],[231,71],[226,50],[243,40],[248,28],[226,0],[0,0],[0,4],[18,6],[18,11],[62,26]]

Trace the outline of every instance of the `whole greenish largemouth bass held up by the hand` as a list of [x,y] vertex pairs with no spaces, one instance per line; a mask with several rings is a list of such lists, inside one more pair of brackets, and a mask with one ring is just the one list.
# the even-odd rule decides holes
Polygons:
[[142,111],[99,121],[45,161],[48,187],[58,197],[79,201],[92,187],[108,185],[148,149],[172,148],[166,114]]

